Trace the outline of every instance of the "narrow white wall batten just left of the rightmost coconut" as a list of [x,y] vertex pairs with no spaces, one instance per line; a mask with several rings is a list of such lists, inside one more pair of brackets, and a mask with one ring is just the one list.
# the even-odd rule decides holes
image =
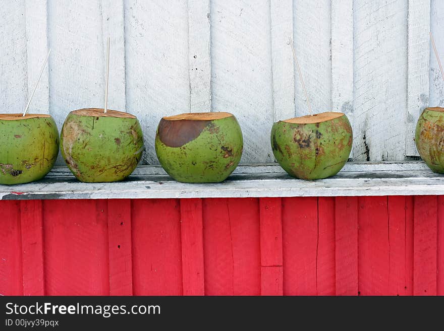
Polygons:
[[408,6],[406,155],[418,156],[416,122],[429,106],[430,0],[409,1]]

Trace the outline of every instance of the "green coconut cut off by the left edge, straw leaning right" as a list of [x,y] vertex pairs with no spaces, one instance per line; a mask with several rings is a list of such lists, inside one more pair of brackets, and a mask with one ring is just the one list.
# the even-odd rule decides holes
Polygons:
[[59,131],[46,114],[0,114],[0,184],[43,178],[59,153]]

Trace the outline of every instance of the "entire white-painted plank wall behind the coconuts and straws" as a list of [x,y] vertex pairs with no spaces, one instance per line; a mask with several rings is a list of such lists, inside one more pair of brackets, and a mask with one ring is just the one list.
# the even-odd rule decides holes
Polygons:
[[273,161],[273,121],[307,114],[288,37],[315,112],[345,112],[353,159],[416,156],[416,120],[444,106],[442,0],[1,0],[0,112],[20,112],[48,48],[30,112],[61,128],[69,111],[108,107],[138,116],[154,164],[162,116],[230,111],[243,162]]

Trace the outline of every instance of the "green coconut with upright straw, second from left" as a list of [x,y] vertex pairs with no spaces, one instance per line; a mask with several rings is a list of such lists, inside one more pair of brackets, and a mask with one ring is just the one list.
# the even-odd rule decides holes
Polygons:
[[136,116],[88,108],[69,113],[62,127],[61,150],[68,168],[83,182],[111,182],[128,177],[143,151]]

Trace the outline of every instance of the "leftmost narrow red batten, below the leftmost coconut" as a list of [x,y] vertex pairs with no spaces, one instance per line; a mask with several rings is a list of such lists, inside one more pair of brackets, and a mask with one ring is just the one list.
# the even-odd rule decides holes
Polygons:
[[43,212],[41,200],[20,202],[23,294],[44,295]]

